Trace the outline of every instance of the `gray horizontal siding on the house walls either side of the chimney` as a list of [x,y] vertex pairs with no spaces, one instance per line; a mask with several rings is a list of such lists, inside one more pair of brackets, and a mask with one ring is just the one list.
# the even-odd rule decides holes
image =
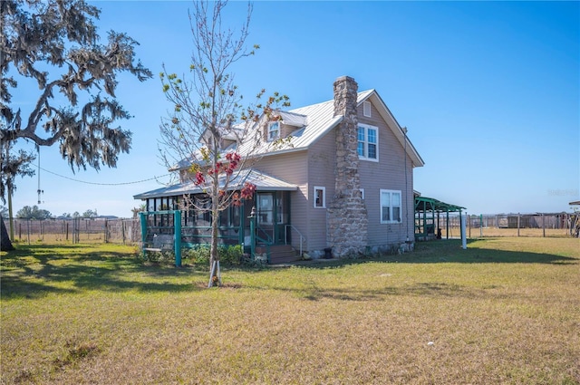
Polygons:
[[[372,105],[372,117],[362,115],[359,122],[379,128],[379,161],[360,161],[359,175],[364,189],[369,216],[369,245],[389,245],[414,239],[413,173],[411,158],[407,158],[407,186],[405,188],[404,148],[387,123]],[[290,194],[292,224],[306,237],[304,250],[322,250],[327,246],[326,209],[314,207],[314,187],[325,188],[326,207],[334,196],[335,134],[330,130],[314,142],[308,150],[296,151],[260,159],[255,168],[276,178],[294,183],[298,190]],[[402,197],[401,223],[381,223],[381,189],[400,190]],[[405,196],[406,193],[406,196]],[[293,236],[293,245],[299,239]]]

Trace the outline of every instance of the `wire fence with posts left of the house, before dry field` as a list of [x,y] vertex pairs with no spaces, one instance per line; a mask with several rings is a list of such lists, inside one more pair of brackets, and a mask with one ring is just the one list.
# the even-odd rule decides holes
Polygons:
[[[13,241],[21,243],[115,243],[140,242],[139,219],[14,219]],[[6,228],[9,221],[5,219]]]

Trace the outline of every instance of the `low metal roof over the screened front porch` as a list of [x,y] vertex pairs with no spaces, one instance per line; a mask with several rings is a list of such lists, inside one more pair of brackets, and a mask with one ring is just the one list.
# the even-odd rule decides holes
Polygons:
[[[223,187],[226,178],[220,176],[219,186]],[[282,179],[272,177],[264,172],[250,168],[241,170],[236,177],[229,181],[228,190],[241,188],[246,182],[256,186],[256,191],[295,191],[298,187],[292,183],[285,182]],[[203,188],[193,182],[178,183],[166,188],[157,188],[155,190],[133,196],[134,199],[147,199],[152,197],[176,197],[186,194],[202,194]]]

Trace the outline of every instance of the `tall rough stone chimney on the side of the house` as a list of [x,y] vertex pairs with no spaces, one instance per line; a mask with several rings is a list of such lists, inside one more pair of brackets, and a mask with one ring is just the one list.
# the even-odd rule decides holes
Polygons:
[[336,127],[334,197],[327,209],[327,244],[338,257],[356,256],[367,245],[368,218],[359,178],[358,84],[349,76],[334,82],[334,116],[343,116]]

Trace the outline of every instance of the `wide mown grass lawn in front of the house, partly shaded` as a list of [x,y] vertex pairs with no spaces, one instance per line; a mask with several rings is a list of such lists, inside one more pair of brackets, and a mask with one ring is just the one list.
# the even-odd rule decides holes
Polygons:
[[206,266],[128,246],[18,248],[1,261],[5,384],[580,383],[578,239],[223,267],[212,289]]

